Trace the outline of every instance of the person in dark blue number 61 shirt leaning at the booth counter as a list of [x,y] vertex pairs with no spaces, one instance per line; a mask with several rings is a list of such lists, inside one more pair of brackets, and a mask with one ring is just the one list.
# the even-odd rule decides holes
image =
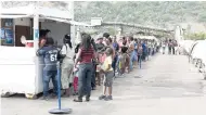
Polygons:
[[59,59],[59,50],[54,46],[52,38],[47,38],[44,47],[41,47],[37,51],[37,56],[43,56],[44,67],[43,67],[43,100],[48,100],[49,82],[52,79],[54,93],[57,94],[57,68],[56,63]]

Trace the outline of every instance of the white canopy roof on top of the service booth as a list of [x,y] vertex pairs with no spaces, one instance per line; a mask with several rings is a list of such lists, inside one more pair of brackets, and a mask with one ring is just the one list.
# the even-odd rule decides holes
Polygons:
[[91,26],[89,24],[70,21],[69,11],[62,11],[59,9],[51,9],[47,7],[35,7],[33,4],[27,7],[16,7],[10,9],[1,9],[1,18],[21,18],[33,17],[34,14],[39,14],[39,18],[48,18],[56,22],[69,23],[78,26]]

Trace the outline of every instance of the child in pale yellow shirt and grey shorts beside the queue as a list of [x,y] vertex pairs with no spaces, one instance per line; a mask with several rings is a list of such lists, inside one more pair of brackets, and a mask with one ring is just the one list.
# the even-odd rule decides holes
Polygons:
[[[103,66],[101,67],[100,72],[104,74],[104,81],[103,81],[103,94],[99,97],[100,100],[110,101],[113,100],[112,97],[112,86],[113,86],[113,67],[112,67],[112,61],[113,61],[113,49],[107,48],[106,49],[106,59],[103,63]],[[106,95],[106,89],[108,89],[108,95]]]

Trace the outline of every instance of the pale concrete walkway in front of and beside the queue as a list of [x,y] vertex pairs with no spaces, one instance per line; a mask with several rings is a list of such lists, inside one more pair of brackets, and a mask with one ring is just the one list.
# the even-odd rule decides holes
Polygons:
[[[205,81],[183,55],[157,54],[125,78],[114,82],[114,100],[99,101],[101,87],[91,102],[62,99],[72,115],[206,115]],[[49,115],[55,100],[2,99],[2,115]]]

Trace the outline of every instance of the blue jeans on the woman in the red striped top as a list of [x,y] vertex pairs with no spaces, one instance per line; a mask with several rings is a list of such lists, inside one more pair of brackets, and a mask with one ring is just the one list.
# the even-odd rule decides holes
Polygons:
[[82,100],[82,97],[90,98],[91,95],[91,79],[93,74],[93,64],[85,63],[79,64],[78,72],[78,99]]

